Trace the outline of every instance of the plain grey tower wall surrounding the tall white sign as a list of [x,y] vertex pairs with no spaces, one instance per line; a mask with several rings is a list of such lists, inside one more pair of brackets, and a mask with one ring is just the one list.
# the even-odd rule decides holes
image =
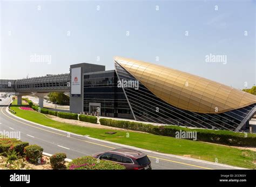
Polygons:
[[[84,73],[90,73],[95,71],[105,71],[105,66],[91,64],[91,63],[78,63],[70,65],[70,68],[79,68],[81,67],[81,95],[80,97],[72,97],[70,93],[70,111],[73,113],[80,113],[83,112],[83,104],[84,104]],[[71,71],[72,74],[72,71]]]

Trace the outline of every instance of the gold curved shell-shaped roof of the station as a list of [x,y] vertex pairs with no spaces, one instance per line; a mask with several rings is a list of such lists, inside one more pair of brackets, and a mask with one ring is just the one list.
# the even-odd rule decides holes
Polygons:
[[203,77],[124,57],[114,60],[154,95],[180,109],[222,113],[256,103],[256,96],[250,93]]

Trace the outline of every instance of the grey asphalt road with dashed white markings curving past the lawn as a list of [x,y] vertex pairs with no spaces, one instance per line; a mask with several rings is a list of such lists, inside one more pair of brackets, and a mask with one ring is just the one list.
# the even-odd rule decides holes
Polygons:
[[[92,140],[86,136],[70,135],[44,126],[38,126],[22,119],[17,119],[8,112],[6,106],[9,98],[1,98],[0,102],[0,131],[19,131],[21,140],[31,144],[37,144],[44,148],[44,152],[66,153],[69,159],[80,156],[92,155],[98,152],[118,148],[120,146]],[[203,163],[200,161],[187,160],[176,156],[167,156],[157,153],[144,152],[151,160],[152,169],[231,169],[229,167],[217,166],[214,163]]]

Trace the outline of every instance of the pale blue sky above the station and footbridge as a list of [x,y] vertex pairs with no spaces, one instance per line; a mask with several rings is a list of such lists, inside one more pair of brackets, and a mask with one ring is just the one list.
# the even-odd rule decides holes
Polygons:
[[[255,5],[255,1],[1,1],[0,78],[68,73],[70,64],[82,62],[109,70],[114,68],[113,56],[124,56],[234,88],[244,88],[245,82],[252,87]],[[51,56],[51,62],[32,62],[34,54]],[[226,64],[206,62],[209,54],[226,55]]]

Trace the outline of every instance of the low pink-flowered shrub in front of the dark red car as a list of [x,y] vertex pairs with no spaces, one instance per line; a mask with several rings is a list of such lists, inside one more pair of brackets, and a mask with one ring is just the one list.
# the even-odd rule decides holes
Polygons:
[[114,163],[112,161],[104,161],[104,160],[97,160],[92,156],[83,156],[78,159],[72,160],[69,165],[68,169],[70,170],[122,170],[125,169],[124,166],[118,163]]

